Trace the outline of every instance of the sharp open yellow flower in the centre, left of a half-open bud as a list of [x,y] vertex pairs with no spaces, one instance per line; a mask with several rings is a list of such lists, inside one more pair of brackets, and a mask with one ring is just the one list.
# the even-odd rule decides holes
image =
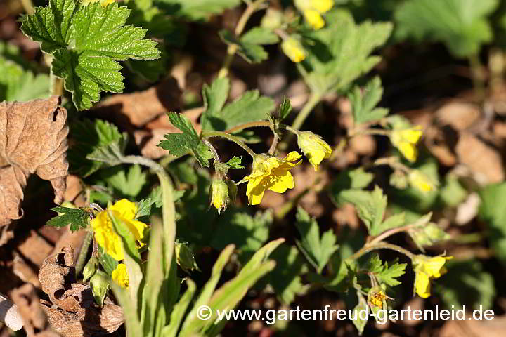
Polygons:
[[300,158],[301,155],[297,151],[290,152],[284,159],[257,154],[253,158],[252,173],[240,181],[248,182],[246,190],[248,204],[260,204],[266,190],[284,193],[287,189],[293,188],[294,178],[288,170],[299,165]]

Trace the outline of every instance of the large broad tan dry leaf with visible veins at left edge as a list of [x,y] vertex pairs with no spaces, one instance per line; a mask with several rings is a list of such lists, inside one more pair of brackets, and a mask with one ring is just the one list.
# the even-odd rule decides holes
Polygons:
[[0,103],[0,226],[21,218],[30,174],[51,181],[55,202],[62,201],[68,171],[66,121],[58,96]]

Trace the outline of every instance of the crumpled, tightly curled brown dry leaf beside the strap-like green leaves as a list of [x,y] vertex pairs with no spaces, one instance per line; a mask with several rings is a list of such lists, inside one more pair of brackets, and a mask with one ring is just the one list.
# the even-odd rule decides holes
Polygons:
[[51,300],[41,300],[42,308],[51,327],[62,336],[98,336],[112,333],[123,324],[119,305],[105,298],[100,308],[93,301],[91,288],[75,283],[74,250],[70,246],[44,260],[39,281]]

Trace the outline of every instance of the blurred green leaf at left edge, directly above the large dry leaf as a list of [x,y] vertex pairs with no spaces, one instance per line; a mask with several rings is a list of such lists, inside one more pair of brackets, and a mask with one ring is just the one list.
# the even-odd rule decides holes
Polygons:
[[49,77],[46,74],[35,76],[30,70],[0,53],[0,102],[25,102],[36,98],[48,98]]

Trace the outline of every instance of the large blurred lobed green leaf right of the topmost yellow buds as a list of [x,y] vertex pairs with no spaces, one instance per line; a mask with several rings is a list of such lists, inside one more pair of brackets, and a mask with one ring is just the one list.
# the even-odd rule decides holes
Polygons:
[[325,19],[324,28],[304,36],[308,55],[298,65],[311,89],[321,95],[346,88],[377,65],[381,58],[370,54],[392,30],[390,22],[356,25],[350,13],[339,9],[327,12]]

